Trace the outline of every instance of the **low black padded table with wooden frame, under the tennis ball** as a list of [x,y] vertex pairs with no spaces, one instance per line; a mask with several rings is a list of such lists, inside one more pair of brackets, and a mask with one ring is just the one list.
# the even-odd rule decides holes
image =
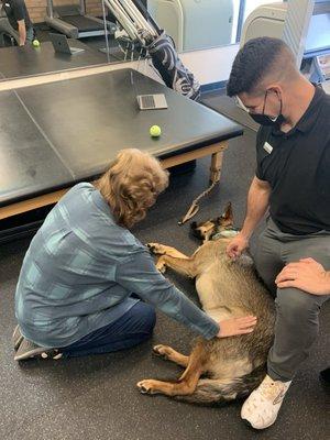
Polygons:
[[[136,95],[160,92],[168,109],[139,109]],[[153,124],[162,128],[157,139]],[[228,140],[241,134],[237,123],[130,68],[2,91],[0,220],[56,202],[124,147],[147,151],[167,168],[210,155],[217,182]]]

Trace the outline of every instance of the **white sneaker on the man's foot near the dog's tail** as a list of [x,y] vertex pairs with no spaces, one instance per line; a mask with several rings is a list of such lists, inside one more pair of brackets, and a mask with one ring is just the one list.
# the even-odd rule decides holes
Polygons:
[[254,429],[264,429],[277,418],[284,396],[292,381],[273,381],[268,375],[254,389],[242,406],[241,417]]

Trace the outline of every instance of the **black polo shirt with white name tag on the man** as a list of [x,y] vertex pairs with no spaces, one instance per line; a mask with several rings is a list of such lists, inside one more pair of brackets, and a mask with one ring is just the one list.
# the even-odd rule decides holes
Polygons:
[[[273,150],[272,150],[273,148]],[[262,127],[256,177],[272,187],[270,213],[283,232],[330,231],[330,96],[315,96],[288,133]]]

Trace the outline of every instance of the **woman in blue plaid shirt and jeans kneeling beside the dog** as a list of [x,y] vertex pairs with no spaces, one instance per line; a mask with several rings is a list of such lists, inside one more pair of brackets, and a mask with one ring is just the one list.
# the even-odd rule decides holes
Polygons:
[[58,201],[20,273],[16,361],[136,345],[152,334],[154,306],[207,339],[253,330],[253,317],[215,322],[156,270],[130,232],[167,185],[157,160],[123,150],[95,185],[78,184]]

